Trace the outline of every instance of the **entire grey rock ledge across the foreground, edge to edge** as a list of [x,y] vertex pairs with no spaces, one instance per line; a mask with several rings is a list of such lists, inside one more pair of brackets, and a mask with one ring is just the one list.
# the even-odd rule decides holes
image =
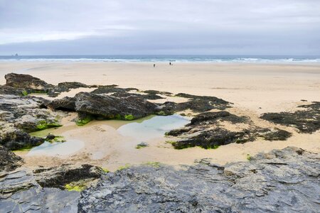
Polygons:
[[[198,160],[198,164],[181,170],[159,163],[115,173],[102,173],[90,165],[39,168],[33,173],[20,169],[0,175],[0,209],[3,212],[317,212],[319,162],[319,154],[288,147],[225,166]],[[97,185],[81,193],[61,189],[65,183],[92,177],[100,177]]]

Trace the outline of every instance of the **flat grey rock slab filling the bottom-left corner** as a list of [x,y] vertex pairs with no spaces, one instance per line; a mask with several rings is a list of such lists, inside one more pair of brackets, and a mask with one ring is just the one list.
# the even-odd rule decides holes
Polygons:
[[0,178],[1,212],[78,212],[80,192],[43,188],[28,170]]

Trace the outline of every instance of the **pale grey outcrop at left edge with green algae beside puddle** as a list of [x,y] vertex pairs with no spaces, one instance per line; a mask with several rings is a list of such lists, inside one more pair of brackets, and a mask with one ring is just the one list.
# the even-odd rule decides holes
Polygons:
[[10,150],[38,146],[43,138],[28,132],[60,126],[63,113],[44,109],[41,98],[0,94],[0,102],[0,144]]

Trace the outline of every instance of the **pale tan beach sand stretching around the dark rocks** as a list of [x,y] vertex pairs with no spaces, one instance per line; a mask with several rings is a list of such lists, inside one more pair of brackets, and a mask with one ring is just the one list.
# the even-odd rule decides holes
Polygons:
[[[118,84],[120,87],[156,89],[166,92],[186,92],[210,95],[233,102],[229,111],[250,116],[256,124],[274,126],[258,116],[264,112],[293,111],[299,104],[320,101],[320,65],[271,65],[236,63],[166,63],[147,62],[1,62],[0,84],[8,72],[26,73],[51,84],[78,81],[86,84]],[[79,90],[77,90],[78,92]],[[75,94],[74,92],[71,92]],[[70,95],[70,94],[63,94]],[[71,94],[72,95],[72,94]],[[306,99],[308,102],[302,102]],[[181,101],[181,100],[178,100]],[[183,100],[182,100],[183,101]],[[111,123],[110,123],[111,122]],[[287,141],[257,141],[245,144],[220,146],[215,150],[187,148],[174,150],[167,138],[157,138],[147,148],[136,149],[136,143],[117,133],[117,125],[108,121],[94,121],[76,127],[65,121],[64,129],[53,130],[65,138],[78,138],[85,148],[67,157],[25,157],[26,165],[56,165],[60,163],[93,163],[114,170],[119,165],[159,161],[170,165],[191,164],[196,159],[212,158],[215,163],[246,160],[247,154],[255,155],[274,148],[297,146],[308,151],[320,152],[320,131],[312,134],[294,133]],[[228,127],[228,124],[227,124]],[[92,153],[95,157],[92,157]],[[26,153],[19,153],[25,156]],[[99,155],[100,159],[96,158]]]

